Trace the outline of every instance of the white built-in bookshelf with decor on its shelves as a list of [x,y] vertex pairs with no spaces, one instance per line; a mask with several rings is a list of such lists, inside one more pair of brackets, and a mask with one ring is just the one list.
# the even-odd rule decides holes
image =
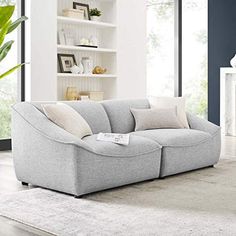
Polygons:
[[[116,97],[117,80],[117,26],[116,26],[116,0],[57,0],[57,30],[74,36],[74,44],[79,45],[81,38],[95,36],[99,41],[98,48],[81,47],[75,45],[57,44],[57,53],[74,54],[77,64],[83,57],[90,57],[94,67],[106,68],[105,74],[71,74],[57,73],[58,100],[65,98],[68,87],[76,87],[80,91],[102,91],[104,99]],[[100,21],[80,20],[65,17],[63,9],[73,8],[73,1],[89,4],[90,8],[102,11]]]

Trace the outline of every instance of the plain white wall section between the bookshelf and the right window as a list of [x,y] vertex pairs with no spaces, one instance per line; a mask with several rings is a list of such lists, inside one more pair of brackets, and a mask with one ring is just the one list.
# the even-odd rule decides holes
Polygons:
[[117,0],[117,97],[146,96],[146,0]]

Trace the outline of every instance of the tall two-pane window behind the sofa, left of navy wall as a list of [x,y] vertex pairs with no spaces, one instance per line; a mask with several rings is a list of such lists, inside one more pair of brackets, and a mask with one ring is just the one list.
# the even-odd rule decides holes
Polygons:
[[[187,110],[205,118],[207,3],[207,0],[147,0],[147,94],[174,96],[175,84],[179,83],[177,87],[186,97]],[[178,24],[182,37],[175,35]],[[182,46],[181,52],[175,48],[176,38]],[[176,62],[175,58],[181,61]],[[181,66],[181,78],[175,75],[175,65]]]

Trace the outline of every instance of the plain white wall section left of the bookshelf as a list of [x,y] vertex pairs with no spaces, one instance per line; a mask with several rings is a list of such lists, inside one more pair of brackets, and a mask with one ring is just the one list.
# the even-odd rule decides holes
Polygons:
[[[33,0],[30,4],[26,99],[50,101],[57,99],[57,1]],[[27,28],[26,28],[27,30]],[[27,44],[28,43],[28,44]],[[30,67],[30,68],[29,68]],[[29,91],[30,90],[30,91]]]

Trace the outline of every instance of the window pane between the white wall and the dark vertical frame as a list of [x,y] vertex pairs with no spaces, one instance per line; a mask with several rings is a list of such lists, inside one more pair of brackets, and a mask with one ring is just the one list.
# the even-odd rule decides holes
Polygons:
[[147,93],[174,96],[174,0],[147,3]]

